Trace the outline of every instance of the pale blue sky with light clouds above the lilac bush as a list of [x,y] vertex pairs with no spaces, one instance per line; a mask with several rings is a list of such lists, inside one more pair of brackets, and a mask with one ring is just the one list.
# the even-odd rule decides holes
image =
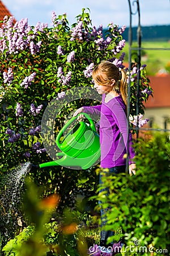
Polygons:
[[[93,26],[107,27],[113,22],[118,26],[129,27],[130,11],[128,0],[2,0],[16,20],[28,18],[28,23],[35,26],[37,22],[52,26],[51,15],[67,14],[69,24],[76,22],[75,17],[83,8],[90,9]],[[134,2],[134,5],[133,5]],[[137,10],[134,0],[130,0],[131,10]],[[141,25],[153,26],[170,24],[170,0],[139,0]],[[132,26],[137,26],[138,16],[132,15]]]

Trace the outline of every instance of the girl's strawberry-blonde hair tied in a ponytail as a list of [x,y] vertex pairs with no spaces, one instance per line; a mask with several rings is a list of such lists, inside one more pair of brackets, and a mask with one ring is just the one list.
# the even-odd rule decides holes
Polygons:
[[116,65],[110,61],[103,61],[92,72],[92,78],[98,85],[109,86],[112,79],[116,81],[114,90],[121,93],[122,99],[127,105],[127,82],[126,72],[121,69],[121,73]]

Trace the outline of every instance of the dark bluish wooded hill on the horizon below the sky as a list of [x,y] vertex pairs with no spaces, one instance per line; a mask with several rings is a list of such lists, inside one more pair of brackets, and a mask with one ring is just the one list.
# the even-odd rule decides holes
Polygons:
[[[123,38],[128,41],[128,31],[123,32]],[[142,40],[143,41],[169,41],[170,40],[170,25],[162,25],[162,26],[148,26],[141,27],[142,31]],[[133,41],[137,41],[137,27],[132,28],[132,36]]]

